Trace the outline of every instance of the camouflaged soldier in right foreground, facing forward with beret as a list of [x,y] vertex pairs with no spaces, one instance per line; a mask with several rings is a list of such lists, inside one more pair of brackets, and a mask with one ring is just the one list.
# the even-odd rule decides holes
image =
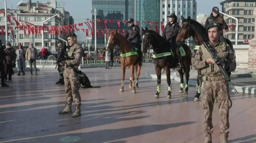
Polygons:
[[[233,55],[233,50],[225,43],[219,42],[219,29],[221,27],[218,23],[211,23],[207,27],[209,42],[207,43],[209,49],[215,53],[219,61],[222,63],[227,72],[232,72],[236,68],[236,61]],[[203,95],[201,99],[201,107],[204,109],[204,143],[212,143],[211,133],[212,126],[212,110],[214,99],[218,97],[218,109],[220,114],[220,143],[227,143],[229,130],[229,109],[232,106],[230,99],[228,82],[222,76],[218,66],[215,64],[210,53],[201,45],[195,55],[193,61],[194,69],[201,69],[203,83]]]

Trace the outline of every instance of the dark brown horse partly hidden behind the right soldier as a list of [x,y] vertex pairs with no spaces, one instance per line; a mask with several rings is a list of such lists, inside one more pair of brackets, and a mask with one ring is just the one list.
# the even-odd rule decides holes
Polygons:
[[[182,24],[181,24],[181,29],[180,32],[176,38],[176,41],[178,44],[185,43],[185,40],[188,39],[189,37],[193,37],[193,43],[196,46],[201,46],[203,42],[208,42],[209,37],[206,29],[197,21],[191,19],[188,17],[188,19],[185,19],[183,16],[181,17]],[[225,38],[226,43],[230,46],[230,48],[233,50],[233,45],[231,41],[227,38]],[[195,97],[199,98],[201,91],[200,91],[200,85],[201,85],[201,79],[200,79],[200,70],[197,71],[198,76],[197,76],[197,86],[198,89],[196,91]],[[196,101],[194,99],[194,101]]]

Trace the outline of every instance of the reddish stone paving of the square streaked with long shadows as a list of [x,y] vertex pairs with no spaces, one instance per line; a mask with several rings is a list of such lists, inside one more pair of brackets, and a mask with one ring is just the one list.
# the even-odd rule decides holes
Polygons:
[[[145,64],[139,89],[119,92],[121,69],[86,68],[93,86],[80,89],[82,116],[59,115],[65,103],[64,86],[56,85],[58,72],[42,68],[38,76],[13,76],[9,88],[0,88],[0,143],[201,143],[203,110],[193,102],[196,87],[179,93],[172,80],[172,99],[166,99],[167,83],[154,98],[156,79],[145,78],[154,66]],[[163,75],[165,76],[165,75]],[[229,143],[256,142],[256,94],[231,93]],[[74,104],[72,104],[74,111]],[[213,112],[213,143],[219,143],[219,115]]]

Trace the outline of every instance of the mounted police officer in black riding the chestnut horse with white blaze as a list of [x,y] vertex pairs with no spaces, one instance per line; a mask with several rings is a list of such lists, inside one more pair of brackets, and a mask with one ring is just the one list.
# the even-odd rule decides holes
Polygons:
[[126,39],[130,41],[135,48],[138,50],[139,54],[139,65],[142,65],[142,51],[141,51],[141,39],[140,39],[140,27],[134,24],[134,19],[128,19],[129,28],[128,33],[126,34]]

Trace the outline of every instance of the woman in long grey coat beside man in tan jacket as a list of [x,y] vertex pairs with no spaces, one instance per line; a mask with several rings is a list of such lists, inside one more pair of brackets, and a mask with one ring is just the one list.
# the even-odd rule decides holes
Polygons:
[[17,55],[17,67],[18,67],[18,76],[20,76],[20,73],[25,76],[25,70],[26,70],[26,52],[23,49],[21,44],[18,44],[18,49],[16,50]]

